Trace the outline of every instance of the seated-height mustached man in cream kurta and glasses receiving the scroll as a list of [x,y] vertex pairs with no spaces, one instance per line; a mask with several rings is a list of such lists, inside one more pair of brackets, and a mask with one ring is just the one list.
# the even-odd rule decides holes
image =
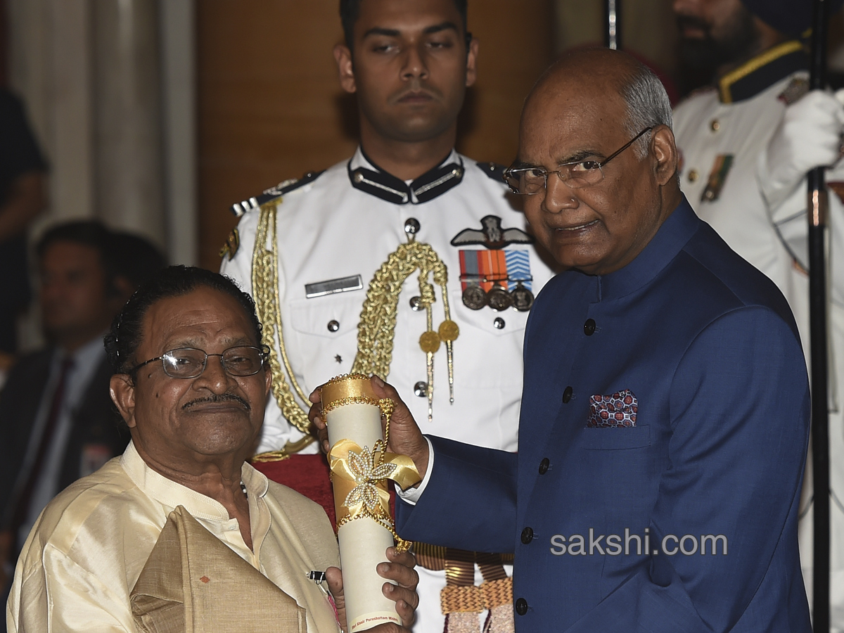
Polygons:
[[[270,385],[259,340],[252,300],[217,273],[171,267],[133,295],[106,337],[111,397],[133,441],[41,513],[8,630],[345,627],[325,512],[245,461]],[[388,558],[378,571],[395,584],[383,591],[409,624],[412,557]]]

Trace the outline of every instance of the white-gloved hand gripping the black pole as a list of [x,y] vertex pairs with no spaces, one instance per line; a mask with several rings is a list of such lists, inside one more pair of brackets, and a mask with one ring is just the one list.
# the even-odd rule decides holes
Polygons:
[[781,203],[815,167],[841,157],[844,91],[812,90],[787,106],[779,127],[760,156],[759,181],[772,206]]

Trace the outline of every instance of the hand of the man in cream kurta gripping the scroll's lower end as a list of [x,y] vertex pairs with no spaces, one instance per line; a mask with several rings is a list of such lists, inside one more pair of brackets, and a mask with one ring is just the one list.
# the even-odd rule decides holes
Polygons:
[[[378,625],[370,630],[373,633],[376,633],[376,631],[377,633],[400,633],[401,631],[408,633],[410,626],[414,624],[416,607],[419,606],[419,595],[416,593],[419,574],[414,570],[416,559],[410,552],[398,553],[396,548],[388,547],[387,560],[390,562],[378,563],[376,567],[378,576],[392,581],[385,582],[381,587],[381,592],[387,598],[395,601],[396,612],[402,619],[403,626],[389,623]],[[348,623],[346,622],[346,601],[343,594],[343,574],[337,567],[329,567],[325,571],[325,577],[328,582],[328,589],[331,590],[331,595],[334,598],[334,604],[337,606],[340,627],[346,631],[348,630]]]

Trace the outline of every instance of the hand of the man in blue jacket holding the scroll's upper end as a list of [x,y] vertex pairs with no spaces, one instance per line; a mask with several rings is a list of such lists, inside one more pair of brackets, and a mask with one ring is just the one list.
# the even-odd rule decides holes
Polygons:
[[[422,436],[422,431],[414,420],[413,414],[410,413],[408,405],[406,405],[402,398],[398,396],[398,392],[392,385],[388,385],[382,381],[378,376],[372,376],[372,389],[376,392],[378,398],[390,398],[395,403],[395,408],[392,410],[390,418],[390,437],[387,443],[387,450],[398,453],[399,455],[407,455],[416,465],[419,471],[419,477],[425,479],[425,473],[428,470],[428,442]],[[317,387],[309,399],[311,400],[311,411],[308,413],[308,419],[311,424],[317,429],[320,446],[323,452],[328,452],[331,446],[328,445],[328,430],[325,421],[322,419],[322,404],[320,403],[320,389]],[[417,484],[418,485],[418,484]]]

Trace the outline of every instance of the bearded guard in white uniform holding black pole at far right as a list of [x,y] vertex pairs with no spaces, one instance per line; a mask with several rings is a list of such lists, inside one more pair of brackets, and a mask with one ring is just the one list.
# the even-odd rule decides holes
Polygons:
[[[841,7],[840,0],[832,9]],[[809,93],[808,56],[798,40],[812,3],[801,0],[674,0],[687,62],[715,70],[674,112],[681,186],[742,257],[770,277],[790,304],[809,356],[805,174],[828,171],[844,193],[839,161],[844,108]],[[807,94],[808,93],[808,94]],[[836,182],[839,181],[839,182]],[[831,623],[844,630],[844,206],[830,192]],[[749,369],[749,368],[748,368]],[[800,556],[811,597],[811,464],[803,489]]]

